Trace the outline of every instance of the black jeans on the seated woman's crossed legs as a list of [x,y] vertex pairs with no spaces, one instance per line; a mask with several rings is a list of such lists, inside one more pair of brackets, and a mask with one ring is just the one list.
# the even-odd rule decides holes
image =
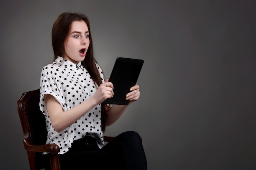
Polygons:
[[137,132],[123,132],[103,148],[95,139],[83,137],[59,155],[61,170],[147,170],[141,138]]

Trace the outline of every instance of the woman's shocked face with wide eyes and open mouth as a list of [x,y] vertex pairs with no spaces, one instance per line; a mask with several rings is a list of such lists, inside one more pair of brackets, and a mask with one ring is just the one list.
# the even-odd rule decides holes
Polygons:
[[74,64],[85,59],[85,54],[90,44],[88,26],[84,21],[73,21],[70,34],[64,44],[64,58]]

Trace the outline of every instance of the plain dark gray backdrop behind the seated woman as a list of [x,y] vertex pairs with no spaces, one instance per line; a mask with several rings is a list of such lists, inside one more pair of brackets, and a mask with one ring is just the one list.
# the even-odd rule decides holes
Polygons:
[[[0,169],[29,169],[17,99],[39,88],[62,12],[91,21],[106,76],[143,59],[141,98],[106,130],[139,132],[148,170],[256,168],[254,0],[1,1]],[[132,68],[131,68],[132,69]]]

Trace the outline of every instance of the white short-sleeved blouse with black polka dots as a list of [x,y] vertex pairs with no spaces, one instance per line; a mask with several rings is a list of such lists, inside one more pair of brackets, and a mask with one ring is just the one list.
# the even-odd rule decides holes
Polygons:
[[[99,65],[101,79],[103,73]],[[81,104],[94,95],[97,84],[90,78],[89,73],[81,62],[74,64],[63,57],[58,57],[52,64],[43,67],[40,77],[40,110],[45,115],[47,128],[46,144],[54,143],[60,147],[60,154],[69,150],[72,142],[84,136],[92,136],[97,140],[99,148],[103,147],[103,132],[101,131],[101,105],[97,105],[83,115],[70,127],[56,132],[51,124],[45,106],[44,95],[49,94],[61,104],[64,111]]]

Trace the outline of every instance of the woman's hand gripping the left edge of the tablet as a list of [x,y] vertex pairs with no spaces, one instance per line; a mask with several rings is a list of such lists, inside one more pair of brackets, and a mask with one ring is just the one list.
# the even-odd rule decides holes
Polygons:
[[106,79],[105,83],[102,83],[97,92],[94,94],[95,99],[98,100],[97,103],[101,104],[106,99],[109,99],[113,97],[114,91],[113,91],[113,84],[111,82],[108,82],[109,79]]

